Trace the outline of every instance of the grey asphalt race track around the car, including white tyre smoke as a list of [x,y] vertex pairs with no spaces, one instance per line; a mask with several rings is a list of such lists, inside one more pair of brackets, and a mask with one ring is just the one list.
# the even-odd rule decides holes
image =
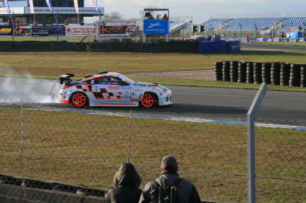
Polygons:
[[[14,84],[14,85],[12,85]],[[76,109],[58,102],[59,80],[0,77],[0,101],[22,101],[58,108]],[[212,119],[246,119],[257,90],[167,86],[173,92],[171,106],[147,109],[143,107],[86,107],[86,110],[145,113],[161,116],[201,117]],[[5,90],[5,91],[4,91]],[[306,93],[268,91],[256,118],[273,122],[306,123]]]

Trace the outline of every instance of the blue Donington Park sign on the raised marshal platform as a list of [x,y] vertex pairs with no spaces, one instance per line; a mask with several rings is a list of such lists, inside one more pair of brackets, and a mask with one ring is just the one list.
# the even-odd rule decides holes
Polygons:
[[168,34],[168,20],[144,20],[144,34]]

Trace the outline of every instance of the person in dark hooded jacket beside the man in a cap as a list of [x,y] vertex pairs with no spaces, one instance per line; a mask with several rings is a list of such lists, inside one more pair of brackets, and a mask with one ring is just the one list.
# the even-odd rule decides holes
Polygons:
[[114,189],[109,190],[106,203],[138,203],[142,190],[141,177],[133,164],[124,163],[114,177]]

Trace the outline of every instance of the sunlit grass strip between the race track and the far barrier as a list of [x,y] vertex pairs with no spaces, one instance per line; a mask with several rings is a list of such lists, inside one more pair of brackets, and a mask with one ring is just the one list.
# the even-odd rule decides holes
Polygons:
[[[16,59],[17,58],[17,59]],[[58,79],[65,73],[74,73],[74,79],[95,74],[101,70],[122,74],[144,72],[173,72],[212,70],[214,62],[245,60],[254,62],[289,62],[306,64],[306,52],[232,52],[227,54],[153,54],[101,52],[31,52],[0,53],[1,76]],[[137,81],[164,85],[257,89],[245,83],[195,80],[184,78],[133,78]],[[268,86],[270,90],[301,91],[305,87]]]

